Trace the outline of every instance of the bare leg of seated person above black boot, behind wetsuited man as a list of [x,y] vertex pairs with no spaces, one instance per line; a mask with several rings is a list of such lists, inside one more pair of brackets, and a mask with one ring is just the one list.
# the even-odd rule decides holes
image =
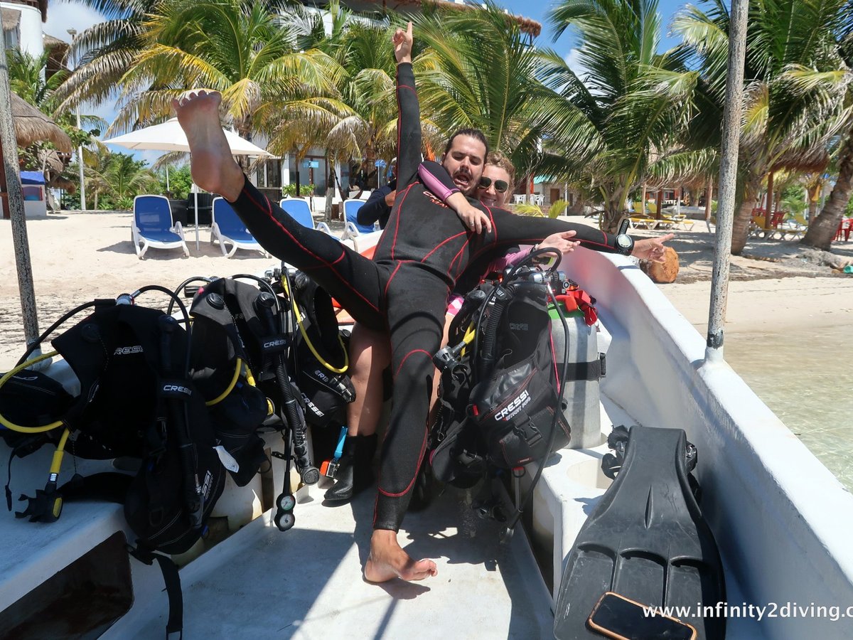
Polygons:
[[349,435],[372,435],[382,413],[382,371],[391,364],[388,335],[356,323],[350,338],[350,379],[356,399],[346,405]]

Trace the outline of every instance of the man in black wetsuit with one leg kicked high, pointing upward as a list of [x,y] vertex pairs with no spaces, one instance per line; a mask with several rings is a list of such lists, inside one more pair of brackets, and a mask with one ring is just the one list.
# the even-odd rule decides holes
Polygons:
[[[664,251],[657,238],[636,241],[549,218],[523,218],[481,207],[490,231],[475,233],[418,179],[421,162],[420,109],[410,64],[409,31],[394,34],[397,55],[397,199],[374,259],[366,259],[322,232],[297,223],[249,183],[231,157],[219,125],[221,96],[190,91],[174,102],[192,152],[193,179],[233,203],[248,230],[270,253],[311,276],[368,329],[386,331],[392,345],[394,396],[382,447],[379,495],[365,578],[424,579],[438,573],[432,560],[415,561],[397,542],[412,486],[427,445],[427,414],[434,366],[444,326],[447,296],[467,265],[498,255],[505,247],[534,244],[553,233],[574,230],[575,239],[609,253],[640,258]],[[445,154],[449,188],[470,192],[483,171],[486,145],[456,136]],[[446,176],[445,176],[446,178]],[[439,178],[440,179],[440,178]]]

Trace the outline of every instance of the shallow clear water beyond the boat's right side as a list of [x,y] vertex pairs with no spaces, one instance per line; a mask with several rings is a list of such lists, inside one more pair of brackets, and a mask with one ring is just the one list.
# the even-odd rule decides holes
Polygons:
[[724,357],[853,491],[853,324],[813,335],[728,335]]

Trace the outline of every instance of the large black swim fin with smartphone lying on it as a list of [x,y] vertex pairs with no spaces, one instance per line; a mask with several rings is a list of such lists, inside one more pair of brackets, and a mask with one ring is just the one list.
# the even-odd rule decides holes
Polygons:
[[725,618],[703,618],[697,603],[725,601],[717,543],[688,482],[682,429],[635,426],[616,480],[577,534],[554,610],[554,637],[600,638],[589,614],[606,591],[675,615],[699,639],[725,636]]

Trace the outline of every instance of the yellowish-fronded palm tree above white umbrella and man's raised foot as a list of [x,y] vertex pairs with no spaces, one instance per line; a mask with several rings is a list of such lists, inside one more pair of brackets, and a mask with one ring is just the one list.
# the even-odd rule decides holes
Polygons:
[[122,108],[110,132],[161,121],[183,90],[223,93],[223,116],[251,136],[253,113],[270,96],[322,91],[334,85],[328,55],[300,51],[281,9],[285,0],[148,0],[103,2],[108,20],[75,40],[83,63],[63,84],[67,104],[97,102],[120,92]]

